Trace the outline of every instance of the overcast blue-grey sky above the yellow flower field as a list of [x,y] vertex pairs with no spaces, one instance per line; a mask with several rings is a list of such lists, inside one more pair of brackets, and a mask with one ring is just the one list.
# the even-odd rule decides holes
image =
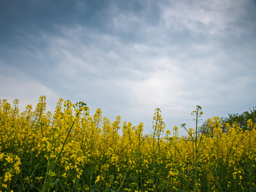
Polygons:
[[255,50],[255,0],[0,1],[0,99],[20,112],[45,95],[195,128],[196,105],[202,122],[256,105]]

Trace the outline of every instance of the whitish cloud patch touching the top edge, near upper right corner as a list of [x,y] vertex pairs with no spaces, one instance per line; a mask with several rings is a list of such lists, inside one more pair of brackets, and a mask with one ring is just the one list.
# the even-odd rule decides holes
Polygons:
[[[242,33],[240,28],[229,24],[244,15],[245,1],[176,1],[162,6],[164,23],[177,31],[184,28],[193,33],[222,35],[229,27],[230,33]],[[239,32],[240,31],[240,32]]]

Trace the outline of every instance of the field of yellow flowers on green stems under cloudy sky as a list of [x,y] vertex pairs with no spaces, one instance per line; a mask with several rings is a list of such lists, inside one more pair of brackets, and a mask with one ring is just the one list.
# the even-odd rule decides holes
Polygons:
[[[45,96],[33,110],[19,112],[0,100],[0,191],[256,191],[256,124],[198,134],[200,106],[192,112],[195,129],[179,136],[165,129],[160,109],[152,134],[143,124],[120,125],[90,116],[84,102],[60,99],[46,112]],[[228,125],[226,125],[228,126]],[[182,125],[186,129],[185,125]]]

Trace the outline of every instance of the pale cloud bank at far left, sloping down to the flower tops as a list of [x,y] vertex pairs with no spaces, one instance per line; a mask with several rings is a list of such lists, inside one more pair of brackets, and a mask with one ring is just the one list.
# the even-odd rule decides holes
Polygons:
[[1,99],[7,99],[12,104],[13,100],[18,99],[20,112],[24,111],[28,104],[35,109],[41,95],[46,96],[47,111],[54,112],[54,108],[60,97],[54,90],[51,90],[42,83],[36,82],[34,79],[26,76],[23,72],[17,71],[15,68],[1,65],[0,74],[0,90]]

